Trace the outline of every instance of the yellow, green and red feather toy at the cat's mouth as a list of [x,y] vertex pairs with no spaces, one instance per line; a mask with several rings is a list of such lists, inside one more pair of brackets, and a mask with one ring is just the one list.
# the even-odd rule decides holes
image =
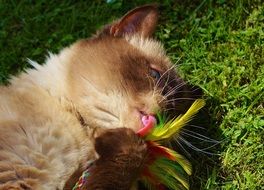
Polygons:
[[150,190],[189,189],[188,176],[191,175],[191,164],[176,151],[162,146],[162,143],[177,137],[180,129],[186,125],[193,116],[205,105],[204,100],[196,100],[188,111],[166,122],[165,118],[159,117],[159,124],[151,129],[141,129],[138,134],[144,138],[148,145],[149,155],[141,174],[141,181]]

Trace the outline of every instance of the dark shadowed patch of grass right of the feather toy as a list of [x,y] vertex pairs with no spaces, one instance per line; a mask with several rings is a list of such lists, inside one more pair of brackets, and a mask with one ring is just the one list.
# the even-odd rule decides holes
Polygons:
[[217,100],[208,100],[206,106],[181,132],[184,141],[177,146],[177,151],[185,155],[192,163],[190,189],[216,188],[217,171],[220,170],[222,130],[210,109],[217,105]]

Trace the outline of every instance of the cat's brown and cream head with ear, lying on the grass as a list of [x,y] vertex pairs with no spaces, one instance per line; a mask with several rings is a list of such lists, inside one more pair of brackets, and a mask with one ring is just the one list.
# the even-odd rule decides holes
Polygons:
[[85,123],[138,130],[144,115],[186,110],[192,89],[151,38],[157,20],[155,5],[139,7],[67,49],[69,98]]

